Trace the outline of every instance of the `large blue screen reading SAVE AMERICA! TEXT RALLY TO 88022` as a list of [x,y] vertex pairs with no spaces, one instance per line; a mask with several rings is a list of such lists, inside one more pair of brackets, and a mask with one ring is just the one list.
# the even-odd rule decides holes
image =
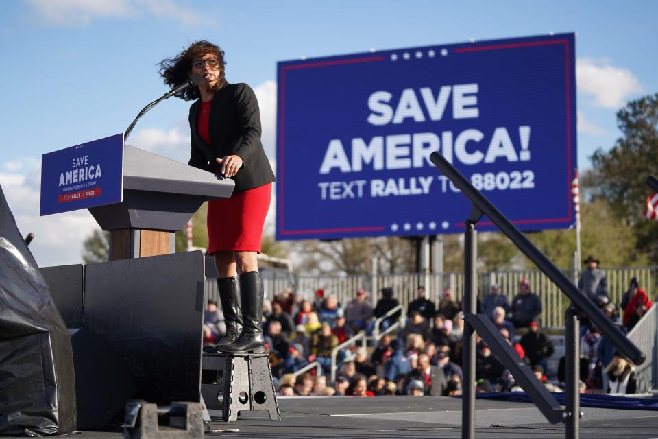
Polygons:
[[277,239],[461,232],[433,151],[520,229],[572,226],[574,62],[574,34],[279,62]]

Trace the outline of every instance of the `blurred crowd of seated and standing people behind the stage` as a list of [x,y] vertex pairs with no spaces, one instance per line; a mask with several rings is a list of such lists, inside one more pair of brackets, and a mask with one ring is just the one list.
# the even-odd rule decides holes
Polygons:
[[[579,287],[602,311],[629,329],[651,307],[646,293],[633,278],[620,305],[607,295],[605,272],[590,257]],[[289,289],[265,301],[263,333],[265,348],[276,387],[280,395],[444,395],[461,394],[463,371],[463,318],[460,302],[450,289],[444,289],[439,302],[428,299],[424,287],[407,307],[404,327],[380,337],[369,348],[349,346],[337,352],[337,374],[328,381],[332,352],[350,337],[365,331],[374,333],[377,318],[387,316],[398,307],[393,289],[383,288],[376,306],[371,307],[367,292],[357,289],[344,306],[337,296],[322,289],[314,300],[304,300]],[[531,291],[526,278],[511,302],[498,285],[493,285],[483,300],[478,299],[478,313],[485,313],[499,329],[513,350],[525,361],[550,391],[559,392],[564,381],[564,364],[560,361],[557,381],[546,377],[548,359],[555,348],[551,337],[541,329],[541,300]],[[623,319],[620,320],[620,308]],[[400,319],[400,311],[390,313],[380,322],[380,333]],[[204,324],[204,342],[215,343],[221,335],[221,313],[215,303],[208,305]],[[584,317],[581,318],[581,385],[606,392],[633,393],[635,377],[631,362],[616,353],[609,340]],[[522,390],[509,370],[491,353],[491,348],[477,337],[476,389],[478,392]],[[295,372],[317,361],[316,368]]]

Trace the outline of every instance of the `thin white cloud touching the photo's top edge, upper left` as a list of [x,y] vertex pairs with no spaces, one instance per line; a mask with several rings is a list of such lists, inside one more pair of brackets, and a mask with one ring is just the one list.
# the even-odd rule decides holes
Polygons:
[[210,25],[212,20],[174,0],[29,0],[40,21],[56,26],[88,26],[96,19],[136,19],[151,15],[187,26]]

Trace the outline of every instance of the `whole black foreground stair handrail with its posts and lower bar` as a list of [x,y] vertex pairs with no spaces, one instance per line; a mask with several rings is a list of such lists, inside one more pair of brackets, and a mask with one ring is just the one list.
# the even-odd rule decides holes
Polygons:
[[[462,438],[475,437],[475,336],[476,329],[491,351],[511,372],[517,383],[522,385],[531,401],[537,405],[550,423],[564,422],[565,437],[578,438],[580,425],[580,400],[578,395],[578,313],[584,314],[592,324],[605,335],[618,351],[629,357],[633,363],[644,363],[646,356],[626,335],[609,320],[594,303],[581,292],[570,279],[561,272],[535,245],[516,228],[465,176],[438,152],[430,154],[430,161],[441,170],[444,176],[471,202],[471,211],[465,221],[464,230],[464,272],[467,283],[464,286],[465,325],[463,335],[463,386],[462,394]],[[475,226],[486,216],[496,227],[531,259],[537,267],[558,285],[572,301],[565,312],[565,409],[562,409],[555,396],[533,375],[528,366],[517,363],[518,356],[502,339],[491,320],[476,314],[477,300],[477,232]]]

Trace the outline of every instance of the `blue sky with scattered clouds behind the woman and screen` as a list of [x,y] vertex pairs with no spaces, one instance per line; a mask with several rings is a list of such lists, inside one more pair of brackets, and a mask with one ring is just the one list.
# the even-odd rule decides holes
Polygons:
[[[25,0],[0,12],[0,185],[40,265],[80,262],[97,227],[86,211],[38,217],[41,154],[123,132],[167,91],[156,64],[193,40],[219,44],[228,80],[256,90],[271,158],[276,62],[300,56],[576,32],[581,169],[619,137],[618,108],[658,91],[655,1]],[[188,105],[163,102],[129,143],[186,161]]]

